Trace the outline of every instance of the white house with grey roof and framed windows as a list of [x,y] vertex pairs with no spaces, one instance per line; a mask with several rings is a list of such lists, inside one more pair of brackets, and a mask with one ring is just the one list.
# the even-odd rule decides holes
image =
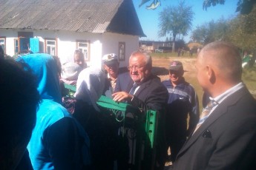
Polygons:
[[0,44],[11,56],[30,49],[63,64],[80,49],[89,66],[101,66],[102,55],[114,52],[125,67],[142,36],[132,0],[0,1]]

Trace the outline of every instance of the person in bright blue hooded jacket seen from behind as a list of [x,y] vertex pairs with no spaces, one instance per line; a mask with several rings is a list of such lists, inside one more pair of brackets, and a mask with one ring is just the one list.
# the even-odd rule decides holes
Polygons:
[[89,139],[61,105],[56,61],[51,55],[40,53],[17,60],[33,70],[42,98],[27,146],[33,169],[85,169],[90,162]]

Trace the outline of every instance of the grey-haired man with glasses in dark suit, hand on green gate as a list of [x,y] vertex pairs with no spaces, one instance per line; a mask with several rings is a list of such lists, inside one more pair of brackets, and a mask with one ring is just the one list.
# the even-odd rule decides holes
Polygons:
[[[157,156],[154,169],[163,169],[165,149],[164,144],[160,144],[163,139],[163,123],[164,110],[168,100],[168,91],[161,84],[160,78],[151,74],[152,59],[146,52],[136,51],[131,54],[128,66],[131,79],[128,81],[128,87],[125,91],[115,92],[113,94],[114,101],[128,101],[132,106],[139,107],[142,110],[153,109],[159,111],[160,122],[158,122],[157,137]],[[160,147],[163,147],[160,149]],[[145,157],[148,155],[144,155]],[[142,163],[142,169],[150,169],[152,163],[145,161]]]

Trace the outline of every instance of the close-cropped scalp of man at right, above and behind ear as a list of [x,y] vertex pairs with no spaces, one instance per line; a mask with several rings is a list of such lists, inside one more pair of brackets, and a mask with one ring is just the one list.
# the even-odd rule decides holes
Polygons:
[[237,47],[224,41],[207,44],[198,55],[203,64],[215,69],[217,76],[225,81],[238,82],[242,75],[242,60]]

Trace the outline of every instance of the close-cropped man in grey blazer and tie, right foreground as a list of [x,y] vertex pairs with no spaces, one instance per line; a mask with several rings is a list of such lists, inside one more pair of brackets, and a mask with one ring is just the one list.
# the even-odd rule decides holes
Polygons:
[[200,86],[217,105],[200,118],[173,169],[256,169],[256,101],[241,81],[239,51],[215,41],[200,51],[196,67]]

